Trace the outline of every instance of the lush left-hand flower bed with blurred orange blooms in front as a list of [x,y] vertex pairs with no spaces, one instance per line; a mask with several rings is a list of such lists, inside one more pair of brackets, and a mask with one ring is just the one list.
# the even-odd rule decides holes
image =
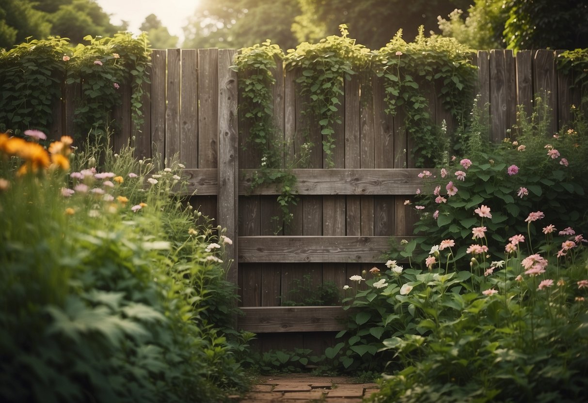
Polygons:
[[244,388],[243,337],[223,328],[231,240],[171,197],[181,164],[25,135],[0,134],[0,400],[218,402]]

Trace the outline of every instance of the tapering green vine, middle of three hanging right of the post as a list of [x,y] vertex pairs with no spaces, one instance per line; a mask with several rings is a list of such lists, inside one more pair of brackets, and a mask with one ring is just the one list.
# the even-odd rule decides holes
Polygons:
[[341,36],[328,36],[318,43],[303,42],[290,49],[285,58],[286,69],[299,68],[300,94],[308,95],[310,116],[319,120],[323,153],[329,168],[335,166],[335,123],[341,123],[338,105],[343,96],[344,80],[369,66],[370,52],[363,45],[348,38],[345,24],[339,25]]

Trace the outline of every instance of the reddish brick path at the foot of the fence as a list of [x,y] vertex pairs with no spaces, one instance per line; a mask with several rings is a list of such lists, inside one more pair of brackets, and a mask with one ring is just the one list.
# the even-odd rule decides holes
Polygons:
[[348,377],[283,374],[262,378],[240,403],[360,403],[377,391],[377,384],[354,384]]

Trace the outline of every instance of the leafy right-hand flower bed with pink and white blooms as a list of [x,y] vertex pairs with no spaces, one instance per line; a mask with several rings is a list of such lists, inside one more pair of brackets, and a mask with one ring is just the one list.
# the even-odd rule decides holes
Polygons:
[[335,358],[385,368],[371,401],[588,398],[586,125],[548,135],[536,105],[502,144],[474,124],[421,172],[417,238],[350,277]]

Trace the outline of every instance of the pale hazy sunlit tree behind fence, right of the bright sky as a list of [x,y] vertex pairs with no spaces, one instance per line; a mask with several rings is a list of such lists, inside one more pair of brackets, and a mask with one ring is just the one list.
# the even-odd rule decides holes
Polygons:
[[242,48],[266,39],[281,48],[298,44],[290,30],[300,14],[292,0],[202,0],[183,28],[183,48]]

